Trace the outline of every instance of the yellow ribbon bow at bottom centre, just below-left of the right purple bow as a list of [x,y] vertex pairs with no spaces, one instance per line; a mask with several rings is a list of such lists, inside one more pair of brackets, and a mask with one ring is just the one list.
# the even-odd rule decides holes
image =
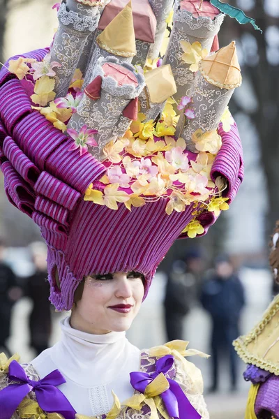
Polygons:
[[147,404],[151,411],[151,416],[149,419],[159,419],[158,411],[163,416],[163,418],[169,419],[165,405],[163,404],[161,397],[159,397],[160,394],[168,389],[169,382],[167,381],[167,378],[165,378],[163,372],[161,372],[156,378],[153,379],[153,381],[151,381],[151,383],[149,383],[149,385],[146,386],[143,395],[135,394],[130,397],[130,399],[126,400],[123,405],[140,411],[142,406]]

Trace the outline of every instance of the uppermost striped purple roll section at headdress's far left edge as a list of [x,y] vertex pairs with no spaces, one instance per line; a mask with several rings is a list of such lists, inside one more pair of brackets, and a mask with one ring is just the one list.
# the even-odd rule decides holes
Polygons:
[[31,101],[20,80],[10,80],[0,87],[0,117],[5,121],[9,135],[12,135],[17,121],[30,112]]

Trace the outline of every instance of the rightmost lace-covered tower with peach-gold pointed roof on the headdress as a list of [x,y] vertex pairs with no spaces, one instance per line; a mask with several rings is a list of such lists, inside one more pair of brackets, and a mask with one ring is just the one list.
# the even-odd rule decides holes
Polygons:
[[230,118],[227,105],[241,80],[234,41],[199,61],[190,97],[184,96],[180,104],[185,106],[186,112],[180,115],[176,126],[177,137],[186,141],[192,138],[188,149],[195,152],[195,144],[200,142],[204,133],[215,131],[221,119]]

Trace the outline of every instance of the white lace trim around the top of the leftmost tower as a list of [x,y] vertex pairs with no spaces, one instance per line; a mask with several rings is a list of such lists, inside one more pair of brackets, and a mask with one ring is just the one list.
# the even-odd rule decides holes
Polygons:
[[62,3],[59,12],[57,14],[59,21],[68,26],[69,24],[73,24],[73,28],[76,31],[82,32],[85,30],[88,31],[95,31],[99,19],[100,13],[97,13],[96,16],[81,16],[79,13],[74,12],[73,10],[67,10],[67,6],[65,3]]

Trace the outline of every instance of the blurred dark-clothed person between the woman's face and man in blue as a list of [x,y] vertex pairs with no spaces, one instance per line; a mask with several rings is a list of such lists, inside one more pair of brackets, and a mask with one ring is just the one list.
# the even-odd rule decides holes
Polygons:
[[165,293],[165,326],[167,339],[183,339],[183,323],[197,300],[204,263],[197,250],[186,254],[185,260],[175,260],[167,274]]

